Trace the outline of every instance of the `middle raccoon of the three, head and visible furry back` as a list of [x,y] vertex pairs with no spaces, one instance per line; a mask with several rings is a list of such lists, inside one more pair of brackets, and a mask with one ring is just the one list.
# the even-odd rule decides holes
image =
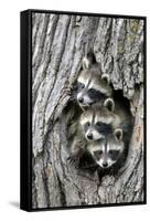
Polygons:
[[132,128],[132,117],[122,104],[107,98],[83,112],[79,120],[87,141],[99,140],[120,127],[125,133]]

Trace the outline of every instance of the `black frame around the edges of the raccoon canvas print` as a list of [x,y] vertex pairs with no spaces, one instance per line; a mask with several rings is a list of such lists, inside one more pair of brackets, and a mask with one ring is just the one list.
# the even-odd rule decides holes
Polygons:
[[118,207],[133,206],[147,203],[147,125],[144,119],[144,176],[143,176],[143,201],[124,202],[124,203],[106,203],[106,204],[85,204],[69,207],[51,207],[51,208],[33,208],[32,207],[32,14],[33,13],[54,13],[68,15],[87,15],[87,17],[104,17],[104,18],[122,18],[143,20],[143,70],[144,70],[144,116],[147,116],[147,18],[138,15],[121,15],[121,14],[103,14],[88,12],[69,12],[69,11],[53,11],[53,10],[26,10],[20,14],[20,38],[21,38],[21,145],[20,145],[20,208],[25,211],[44,211],[44,210],[62,210],[62,209],[84,209],[84,208],[100,208],[100,207]]

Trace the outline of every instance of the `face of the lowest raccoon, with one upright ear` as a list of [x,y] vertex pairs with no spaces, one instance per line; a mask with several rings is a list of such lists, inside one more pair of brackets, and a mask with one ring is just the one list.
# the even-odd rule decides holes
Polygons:
[[117,164],[125,149],[122,129],[116,129],[113,134],[97,143],[89,143],[87,148],[100,168],[110,168]]

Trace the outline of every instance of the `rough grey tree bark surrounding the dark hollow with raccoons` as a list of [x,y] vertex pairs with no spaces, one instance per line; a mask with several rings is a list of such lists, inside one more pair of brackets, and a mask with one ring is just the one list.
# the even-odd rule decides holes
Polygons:
[[[143,201],[143,21],[34,13],[32,25],[33,208]],[[135,116],[125,167],[100,180],[66,160],[64,107],[89,48]]]

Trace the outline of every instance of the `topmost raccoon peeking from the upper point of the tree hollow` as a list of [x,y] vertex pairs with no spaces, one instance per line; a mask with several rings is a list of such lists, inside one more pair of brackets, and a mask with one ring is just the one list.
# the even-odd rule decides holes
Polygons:
[[77,102],[82,109],[113,95],[109,75],[103,73],[93,53],[83,59],[83,71],[77,84]]

